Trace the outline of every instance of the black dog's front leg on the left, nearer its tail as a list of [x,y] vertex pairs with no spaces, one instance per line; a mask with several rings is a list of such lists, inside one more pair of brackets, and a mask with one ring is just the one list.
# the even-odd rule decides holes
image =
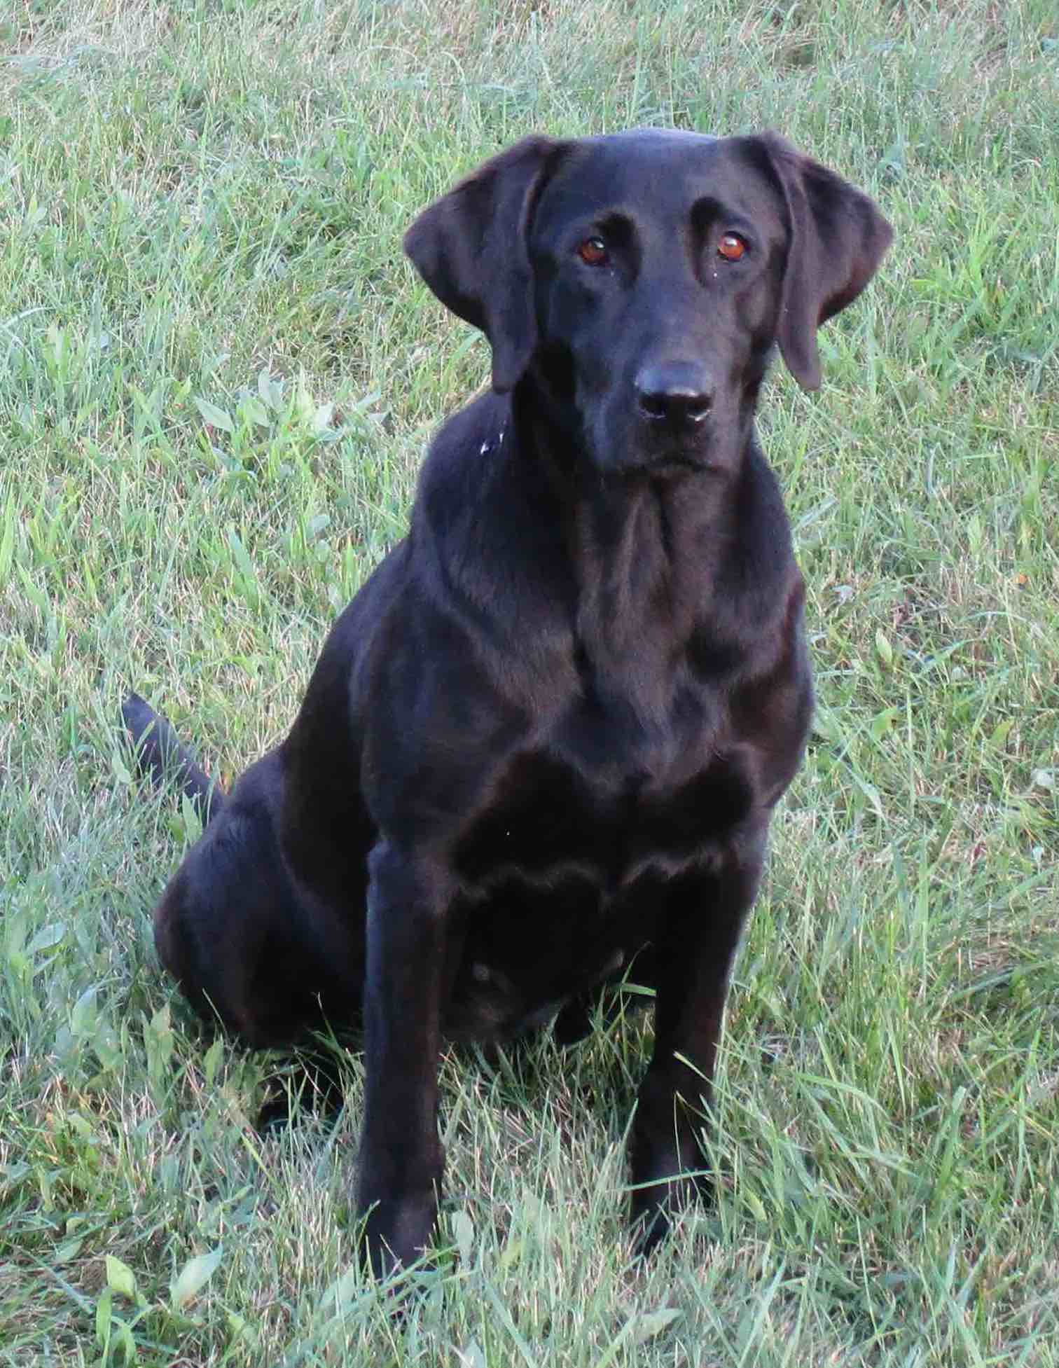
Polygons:
[[438,1212],[438,1052],[449,882],[380,840],[368,859],[365,1099],[357,1207],[382,1276],[417,1259]]

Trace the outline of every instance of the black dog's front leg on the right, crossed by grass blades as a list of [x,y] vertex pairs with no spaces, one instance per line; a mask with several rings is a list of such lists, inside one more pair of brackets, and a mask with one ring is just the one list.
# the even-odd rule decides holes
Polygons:
[[[699,1144],[721,1034],[728,974],[754,902],[765,845],[761,830],[706,877],[670,889],[655,940],[654,1052],[632,1123],[632,1219],[642,1253],[669,1228],[669,1212],[710,1192]],[[695,1176],[681,1176],[695,1174]]]

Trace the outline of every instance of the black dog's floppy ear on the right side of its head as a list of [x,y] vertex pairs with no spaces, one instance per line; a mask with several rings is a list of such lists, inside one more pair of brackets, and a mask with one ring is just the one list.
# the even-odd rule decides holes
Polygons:
[[787,201],[791,239],[777,341],[788,371],[820,387],[817,327],[876,274],[893,230],[874,201],[774,133],[759,140]]

